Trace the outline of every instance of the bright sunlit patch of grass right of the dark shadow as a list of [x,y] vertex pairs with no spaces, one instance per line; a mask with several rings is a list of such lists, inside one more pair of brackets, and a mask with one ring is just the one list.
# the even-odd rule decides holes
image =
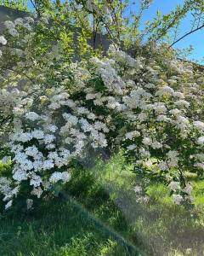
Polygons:
[[[132,166],[114,157],[99,164],[99,180],[114,195],[116,206],[137,239],[135,244],[148,255],[204,255],[204,181],[186,173],[195,189],[194,207],[177,206],[170,190],[159,182],[139,178]],[[133,186],[144,184],[150,201],[137,203]]]

